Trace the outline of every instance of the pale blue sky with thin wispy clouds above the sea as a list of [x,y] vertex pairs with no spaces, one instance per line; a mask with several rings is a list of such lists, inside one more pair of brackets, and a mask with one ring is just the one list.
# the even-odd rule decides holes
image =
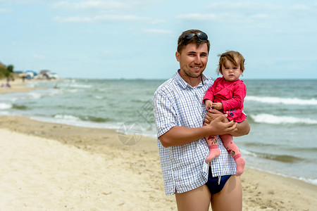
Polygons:
[[168,79],[177,39],[209,36],[205,75],[239,51],[241,79],[317,79],[317,2],[0,0],[0,62],[60,77]]

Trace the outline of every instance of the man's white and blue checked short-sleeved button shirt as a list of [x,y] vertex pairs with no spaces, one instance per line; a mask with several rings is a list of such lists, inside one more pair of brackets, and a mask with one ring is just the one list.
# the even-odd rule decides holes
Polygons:
[[[179,71],[179,70],[178,70]],[[202,75],[197,87],[191,87],[176,72],[164,82],[153,96],[157,137],[172,127],[201,127],[207,113],[203,103],[204,95],[213,84],[211,78]],[[219,139],[219,138],[218,138]],[[208,180],[209,154],[206,139],[199,139],[180,146],[163,147],[157,139],[166,196],[190,191]],[[235,174],[235,161],[218,140],[220,156],[211,162],[213,177]]]

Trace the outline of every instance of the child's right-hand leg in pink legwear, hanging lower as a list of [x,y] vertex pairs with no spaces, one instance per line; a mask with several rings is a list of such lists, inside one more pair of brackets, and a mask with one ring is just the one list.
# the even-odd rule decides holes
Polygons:
[[245,160],[242,158],[241,153],[237,145],[233,143],[232,136],[230,134],[224,134],[220,136],[223,145],[235,159],[235,164],[237,165],[237,170],[235,172],[236,176],[240,176],[244,171]]

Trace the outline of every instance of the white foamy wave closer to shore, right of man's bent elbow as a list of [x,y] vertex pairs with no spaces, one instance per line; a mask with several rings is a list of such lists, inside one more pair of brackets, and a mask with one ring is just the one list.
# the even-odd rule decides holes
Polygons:
[[317,120],[289,116],[275,116],[266,113],[250,115],[254,122],[267,124],[317,124]]

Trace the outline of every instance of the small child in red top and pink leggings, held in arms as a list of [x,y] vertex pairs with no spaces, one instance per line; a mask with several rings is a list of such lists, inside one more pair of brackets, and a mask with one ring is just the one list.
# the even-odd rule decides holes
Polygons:
[[[212,87],[208,89],[204,96],[204,103],[207,110],[215,108],[228,115],[228,120],[242,122],[246,116],[242,112],[244,97],[247,94],[247,87],[239,79],[244,71],[244,58],[237,51],[228,51],[220,56],[218,73],[223,77],[218,77]],[[230,134],[220,136],[223,145],[232,155],[237,165],[236,176],[240,176],[244,171],[245,160],[241,157],[239,148],[233,143]],[[206,137],[210,152],[206,162],[211,162],[220,155],[216,136]]]

